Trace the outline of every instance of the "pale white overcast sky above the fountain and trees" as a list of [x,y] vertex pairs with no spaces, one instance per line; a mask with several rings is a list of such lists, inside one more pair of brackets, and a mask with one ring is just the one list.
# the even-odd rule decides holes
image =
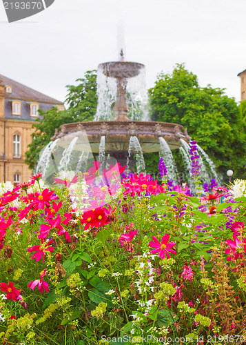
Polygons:
[[147,88],[159,72],[184,62],[201,86],[226,88],[240,101],[245,17],[245,0],[55,0],[8,23],[1,1],[0,74],[64,101],[66,85],[118,59],[123,23],[125,57],[145,64]]

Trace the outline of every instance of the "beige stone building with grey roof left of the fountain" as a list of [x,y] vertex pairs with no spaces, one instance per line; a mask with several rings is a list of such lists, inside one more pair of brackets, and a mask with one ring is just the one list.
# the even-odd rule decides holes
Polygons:
[[0,75],[0,183],[28,181],[32,171],[24,159],[32,141],[33,121],[39,109],[53,107],[64,109],[61,101]]

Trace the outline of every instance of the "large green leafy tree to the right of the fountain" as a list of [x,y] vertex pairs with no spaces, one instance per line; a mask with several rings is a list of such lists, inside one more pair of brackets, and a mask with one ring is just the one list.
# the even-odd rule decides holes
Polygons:
[[225,89],[201,88],[184,64],[177,64],[171,75],[158,75],[150,98],[154,120],[187,128],[224,177],[229,168],[234,177],[246,177],[246,105],[240,109]]

